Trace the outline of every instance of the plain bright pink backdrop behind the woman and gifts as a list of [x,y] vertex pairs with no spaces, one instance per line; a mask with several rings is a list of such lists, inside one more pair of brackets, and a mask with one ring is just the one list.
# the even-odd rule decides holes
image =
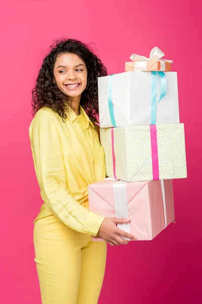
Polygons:
[[[6,3],[6,2],[5,2]],[[201,1],[27,0],[4,4],[1,23],[2,304],[38,304],[32,244],[41,205],[28,127],[31,89],[53,40],[94,42],[109,73],[131,53],[158,46],[178,71],[188,178],[174,181],[177,223],[155,240],[109,248],[99,304],[199,303],[201,300]]]

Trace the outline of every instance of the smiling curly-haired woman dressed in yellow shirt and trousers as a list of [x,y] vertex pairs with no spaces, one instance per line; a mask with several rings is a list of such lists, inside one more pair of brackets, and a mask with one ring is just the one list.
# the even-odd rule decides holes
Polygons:
[[[43,304],[95,304],[102,287],[107,243],[134,236],[124,219],[88,210],[88,184],[106,177],[99,144],[97,77],[107,69],[77,40],[56,41],[32,91],[29,129],[44,204],[34,223],[35,262]],[[106,242],[92,242],[91,236]]]

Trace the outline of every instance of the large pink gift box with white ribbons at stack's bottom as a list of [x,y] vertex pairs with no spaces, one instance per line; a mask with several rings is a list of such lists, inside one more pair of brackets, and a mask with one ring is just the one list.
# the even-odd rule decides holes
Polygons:
[[[121,192],[115,192],[119,183]],[[117,200],[123,206],[125,204],[128,217],[121,212],[123,218],[130,219],[130,223],[124,224],[128,225],[127,229],[122,224],[119,227],[136,236],[139,241],[153,240],[175,219],[172,180],[169,179],[136,182],[104,179],[88,185],[88,199],[90,211],[106,217],[122,217],[116,216]],[[119,212],[119,215],[122,214]],[[92,239],[103,241],[100,237]]]

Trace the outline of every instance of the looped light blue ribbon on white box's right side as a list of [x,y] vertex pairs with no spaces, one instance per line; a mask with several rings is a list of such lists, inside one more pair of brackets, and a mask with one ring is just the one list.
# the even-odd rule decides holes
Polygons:
[[[157,73],[161,82],[161,96],[157,101]],[[151,121],[150,125],[156,125],[157,104],[166,96],[167,80],[164,72],[151,72]]]

